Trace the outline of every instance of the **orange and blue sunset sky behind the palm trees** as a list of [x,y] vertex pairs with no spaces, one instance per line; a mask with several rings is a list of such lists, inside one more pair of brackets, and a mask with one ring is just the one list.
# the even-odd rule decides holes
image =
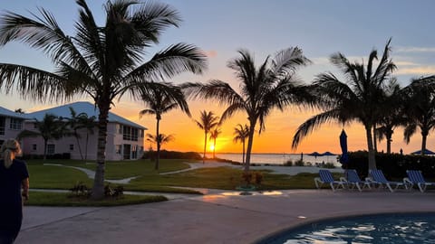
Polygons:
[[[103,5],[106,0],[88,1],[97,22],[103,25]],[[197,45],[208,54],[208,70],[202,76],[181,75],[172,81],[180,84],[185,81],[206,82],[211,79],[224,80],[233,88],[238,88],[238,80],[227,61],[237,57],[237,50],[244,48],[255,53],[256,65],[265,61],[266,56],[282,49],[298,46],[313,64],[298,71],[299,78],[307,84],[315,75],[324,71],[340,74],[329,62],[335,52],[342,52],[353,61],[367,61],[372,49],[382,53],[389,38],[391,57],[398,69],[394,76],[402,86],[412,78],[435,73],[435,1],[408,0],[365,0],[365,1],[324,1],[324,0],[171,0],[160,1],[175,7],[183,17],[179,28],[170,28],[162,34],[160,43],[148,50],[148,60],[155,52],[170,44],[188,42]],[[30,16],[36,13],[37,6],[54,14],[63,30],[74,35],[73,25],[77,20],[77,5],[73,0],[19,0],[3,1],[5,10]],[[0,48],[0,62],[18,63],[43,70],[53,70],[53,64],[42,52],[29,49],[21,43],[9,43]],[[0,106],[14,110],[22,108],[32,112],[41,108],[51,108],[59,104],[41,104],[20,99],[15,95],[0,95]],[[79,99],[77,99],[79,100]],[[81,98],[80,100],[90,100]],[[121,98],[116,101],[111,112],[127,117],[155,132],[155,117],[139,118],[144,107],[140,101]],[[160,122],[160,132],[172,134],[175,141],[163,145],[164,149],[179,151],[201,151],[204,133],[194,124],[201,110],[215,112],[218,116],[224,108],[213,102],[189,101],[192,117],[179,111],[164,114]],[[338,136],[344,128],[348,135],[351,151],[366,149],[365,132],[360,124],[330,125],[320,128],[306,137],[294,151],[291,142],[296,127],[314,111],[300,108],[287,108],[284,112],[274,111],[266,120],[266,131],[256,134],[254,153],[311,153],[313,151],[340,152]],[[221,127],[217,153],[241,152],[241,145],[232,142],[234,127],[247,123],[245,114],[227,120]],[[435,134],[428,138],[428,148],[435,150]],[[392,151],[404,153],[420,149],[420,132],[411,137],[410,145],[402,140],[402,130],[396,129],[393,135]],[[211,143],[210,143],[211,144]],[[146,147],[149,147],[146,144]],[[155,146],[154,146],[155,147]],[[379,150],[385,149],[385,141]]]

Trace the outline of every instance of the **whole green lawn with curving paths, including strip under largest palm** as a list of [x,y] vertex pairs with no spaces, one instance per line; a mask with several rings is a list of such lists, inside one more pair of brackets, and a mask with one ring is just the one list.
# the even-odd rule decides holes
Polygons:
[[[177,192],[177,193],[199,193],[188,189],[176,187],[193,187],[193,188],[211,188],[223,190],[235,190],[237,186],[242,185],[241,169],[230,167],[202,168],[178,174],[159,174],[165,172],[178,171],[189,168],[189,164],[184,163],[186,160],[162,159],[160,161],[160,171],[154,170],[154,162],[150,160],[107,162],[105,178],[119,180],[137,176],[131,183],[122,184],[124,191],[140,192]],[[63,164],[75,167],[95,170],[95,163],[84,164],[77,160],[29,160],[27,161],[31,188],[40,189],[63,189],[69,190],[74,184],[82,182],[89,188],[92,187],[93,180],[88,178],[82,171],[55,165],[43,164]],[[198,162],[198,164],[200,164]],[[258,190],[285,190],[285,189],[313,189],[314,177],[317,174],[297,174],[290,176],[287,174],[270,174],[267,171],[261,171],[263,182],[257,186]],[[334,175],[337,179],[339,174]],[[116,184],[110,183],[111,186]],[[153,198],[144,198],[140,196],[126,196],[125,200],[106,202],[83,202],[77,199],[69,199],[66,193],[53,192],[31,192],[31,201],[28,204],[44,205],[111,205],[126,203],[153,202]],[[154,201],[162,201],[160,198]],[[112,202],[112,203],[111,203]],[[122,203],[124,202],[124,203]]]

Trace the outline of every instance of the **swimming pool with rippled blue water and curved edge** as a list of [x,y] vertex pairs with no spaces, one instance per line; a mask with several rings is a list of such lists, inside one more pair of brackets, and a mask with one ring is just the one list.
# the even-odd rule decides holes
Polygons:
[[435,243],[435,213],[378,214],[321,221],[259,243]]

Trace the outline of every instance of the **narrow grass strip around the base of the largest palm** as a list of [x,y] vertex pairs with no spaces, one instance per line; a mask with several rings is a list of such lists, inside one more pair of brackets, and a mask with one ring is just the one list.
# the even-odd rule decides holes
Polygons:
[[33,206],[63,206],[63,207],[111,207],[130,204],[140,204],[149,202],[163,202],[168,199],[160,195],[127,195],[124,194],[117,199],[104,199],[101,201],[92,201],[75,197],[71,193],[63,192],[30,192],[29,201],[24,205]]

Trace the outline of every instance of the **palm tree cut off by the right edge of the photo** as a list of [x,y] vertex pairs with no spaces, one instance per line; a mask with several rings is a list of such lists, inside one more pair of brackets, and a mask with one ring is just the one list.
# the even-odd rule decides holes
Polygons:
[[410,142],[411,136],[420,128],[421,155],[426,150],[426,141],[430,130],[435,128],[435,76],[412,80],[404,88],[406,94],[405,111],[409,121],[404,130],[404,139]]

